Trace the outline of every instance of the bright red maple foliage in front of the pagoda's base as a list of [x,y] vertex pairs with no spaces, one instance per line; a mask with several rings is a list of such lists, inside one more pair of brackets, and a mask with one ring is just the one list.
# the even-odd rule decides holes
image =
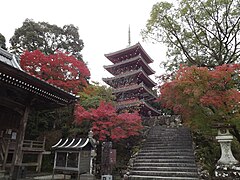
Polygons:
[[111,103],[101,102],[97,109],[85,110],[77,105],[75,122],[91,122],[92,130],[99,140],[119,140],[138,135],[142,129],[138,112],[117,114]]

